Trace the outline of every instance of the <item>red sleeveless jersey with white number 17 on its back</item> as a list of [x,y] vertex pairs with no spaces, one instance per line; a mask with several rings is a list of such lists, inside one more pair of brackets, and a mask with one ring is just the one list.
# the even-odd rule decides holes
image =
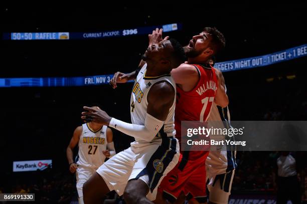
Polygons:
[[[185,92],[177,86],[175,129],[179,141],[181,141],[181,121],[207,121],[217,90],[218,79],[214,68],[204,65],[193,66],[200,75],[195,88]],[[199,158],[206,153],[206,151],[190,151],[189,159]]]

